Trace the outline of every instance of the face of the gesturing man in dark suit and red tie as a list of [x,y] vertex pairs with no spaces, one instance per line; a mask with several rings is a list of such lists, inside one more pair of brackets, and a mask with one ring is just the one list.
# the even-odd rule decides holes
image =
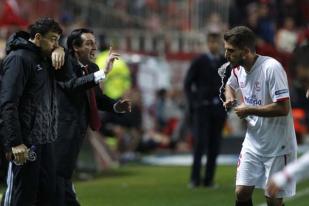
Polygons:
[[83,43],[80,47],[74,47],[80,62],[87,64],[94,61],[97,50],[95,37],[91,33],[83,33],[81,35]]

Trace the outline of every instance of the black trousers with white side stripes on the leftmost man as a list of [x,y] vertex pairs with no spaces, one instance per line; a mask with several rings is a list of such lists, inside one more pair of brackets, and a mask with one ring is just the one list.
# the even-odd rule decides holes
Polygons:
[[54,206],[56,170],[53,144],[36,145],[36,160],[24,165],[9,163],[7,189],[1,205]]

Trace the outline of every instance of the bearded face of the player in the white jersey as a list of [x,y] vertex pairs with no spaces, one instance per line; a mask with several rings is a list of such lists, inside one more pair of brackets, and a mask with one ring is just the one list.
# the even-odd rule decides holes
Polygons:
[[244,50],[235,47],[226,41],[224,41],[224,49],[225,58],[232,64],[232,66],[238,66],[243,64]]

